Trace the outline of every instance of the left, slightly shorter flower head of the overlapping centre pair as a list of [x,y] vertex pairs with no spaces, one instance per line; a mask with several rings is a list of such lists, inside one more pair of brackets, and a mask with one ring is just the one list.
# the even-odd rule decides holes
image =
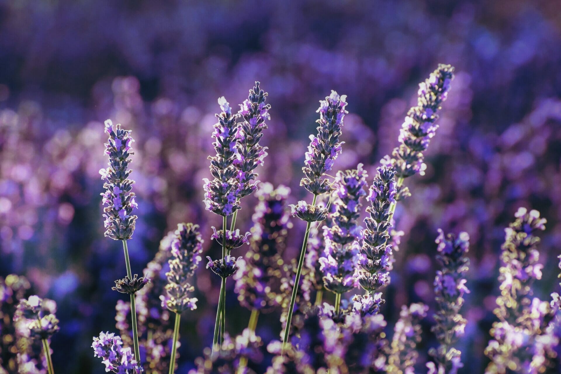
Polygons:
[[237,152],[237,140],[240,138],[238,115],[232,115],[232,108],[222,98],[218,99],[222,112],[216,114],[218,123],[214,125],[212,137],[216,156],[209,156],[210,174],[213,180],[204,178],[205,205],[206,209],[222,216],[228,216],[240,209],[237,201],[241,191],[237,188],[237,169],[233,161]]

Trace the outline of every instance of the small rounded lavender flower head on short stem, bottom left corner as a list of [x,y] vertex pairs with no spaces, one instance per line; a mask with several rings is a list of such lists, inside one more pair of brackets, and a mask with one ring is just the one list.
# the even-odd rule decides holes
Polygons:
[[20,300],[13,319],[15,322],[24,322],[29,329],[30,338],[49,339],[60,330],[58,319],[54,315],[56,311],[56,302],[33,295]]

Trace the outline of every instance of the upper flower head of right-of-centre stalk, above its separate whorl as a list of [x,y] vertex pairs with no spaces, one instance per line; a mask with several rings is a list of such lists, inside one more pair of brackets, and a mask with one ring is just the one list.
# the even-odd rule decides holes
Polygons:
[[327,179],[322,179],[324,173],[332,169],[337,155],[341,153],[343,142],[339,141],[343,118],[346,113],[345,100],[347,95],[339,96],[335,91],[331,91],[325,100],[320,100],[318,113],[318,135],[310,135],[310,145],[306,152],[305,167],[302,171],[305,178],[300,182],[306,190],[314,195],[321,195],[331,190]]

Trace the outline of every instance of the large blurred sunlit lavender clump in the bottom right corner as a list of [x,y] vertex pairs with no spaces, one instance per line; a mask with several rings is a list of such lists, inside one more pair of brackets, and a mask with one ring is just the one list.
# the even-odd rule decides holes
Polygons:
[[[537,210],[521,207],[516,220],[505,229],[500,267],[500,296],[491,328],[493,340],[485,354],[491,359],[486,373],[503,373],[521,368],[539,373],[555,357],[559,338],[550,321],[555,311],[548,302],[532,298],[531,285],[541,279],[536,233],[545,230],[545,218]],[[550,325],[550,326],[548,326]]]

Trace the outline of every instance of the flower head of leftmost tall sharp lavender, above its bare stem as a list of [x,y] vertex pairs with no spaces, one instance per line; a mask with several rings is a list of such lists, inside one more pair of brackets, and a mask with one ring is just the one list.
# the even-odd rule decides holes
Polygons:
[[114,240],[127,240],[135,230],[137,216],[132,211],[138,206],[135,194],[131,192],[132,184],[128,178],[132,170],[128,164],[132,161],[130,155],[132,139],[130,130],[122,130],[121,125],[113,126],[111,120],[105,121],[105,131],[109,134],[109,141],[105,144],[105,153],[109,156],[107,169],[99,170],[105,179],[103,188],[105,236]]

